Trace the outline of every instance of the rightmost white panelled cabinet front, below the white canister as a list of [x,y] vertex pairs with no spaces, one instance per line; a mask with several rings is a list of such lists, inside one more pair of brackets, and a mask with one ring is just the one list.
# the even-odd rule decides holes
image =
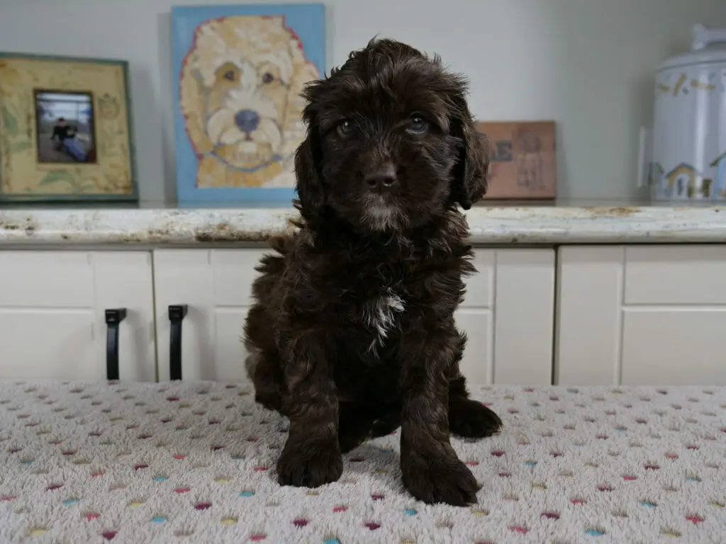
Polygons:
[[726,245],[559,257],[556,383],[726,385]]

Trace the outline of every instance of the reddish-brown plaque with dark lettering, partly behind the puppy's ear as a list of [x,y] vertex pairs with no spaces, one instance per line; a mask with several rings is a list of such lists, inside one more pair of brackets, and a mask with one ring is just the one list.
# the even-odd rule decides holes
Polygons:
[[557,160],[553,121],[481,122],[492,147],[489,190],[492,199],[554,199]]

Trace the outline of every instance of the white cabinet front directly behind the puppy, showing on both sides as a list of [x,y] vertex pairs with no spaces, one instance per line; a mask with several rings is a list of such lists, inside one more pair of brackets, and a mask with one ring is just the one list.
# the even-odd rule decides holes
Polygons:
[[[168,306],[186,304],[181,366],[185,380],[245,381],[242,324],[254,267],[266,249],[154,252],[159,379],[169,379]],[[462,371],[471,384],[549,384],[555,252],[476,249],[457,323],[469,337]]]

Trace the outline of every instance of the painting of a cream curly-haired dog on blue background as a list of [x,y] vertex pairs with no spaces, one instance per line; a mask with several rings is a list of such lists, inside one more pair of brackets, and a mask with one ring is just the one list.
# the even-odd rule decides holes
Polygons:
[[179,204],[290,202],[324,4],[173,7],[171,20]]

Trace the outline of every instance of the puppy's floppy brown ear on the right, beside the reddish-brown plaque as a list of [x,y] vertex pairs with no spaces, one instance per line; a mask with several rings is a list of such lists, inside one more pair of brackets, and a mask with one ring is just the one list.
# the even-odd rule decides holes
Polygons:
[[460,139],[459,157],[452,175],[452,199],[464,210],[478,202],[489,183],[489,141],[476,130],[466,99],[454,100],[452,132]]

